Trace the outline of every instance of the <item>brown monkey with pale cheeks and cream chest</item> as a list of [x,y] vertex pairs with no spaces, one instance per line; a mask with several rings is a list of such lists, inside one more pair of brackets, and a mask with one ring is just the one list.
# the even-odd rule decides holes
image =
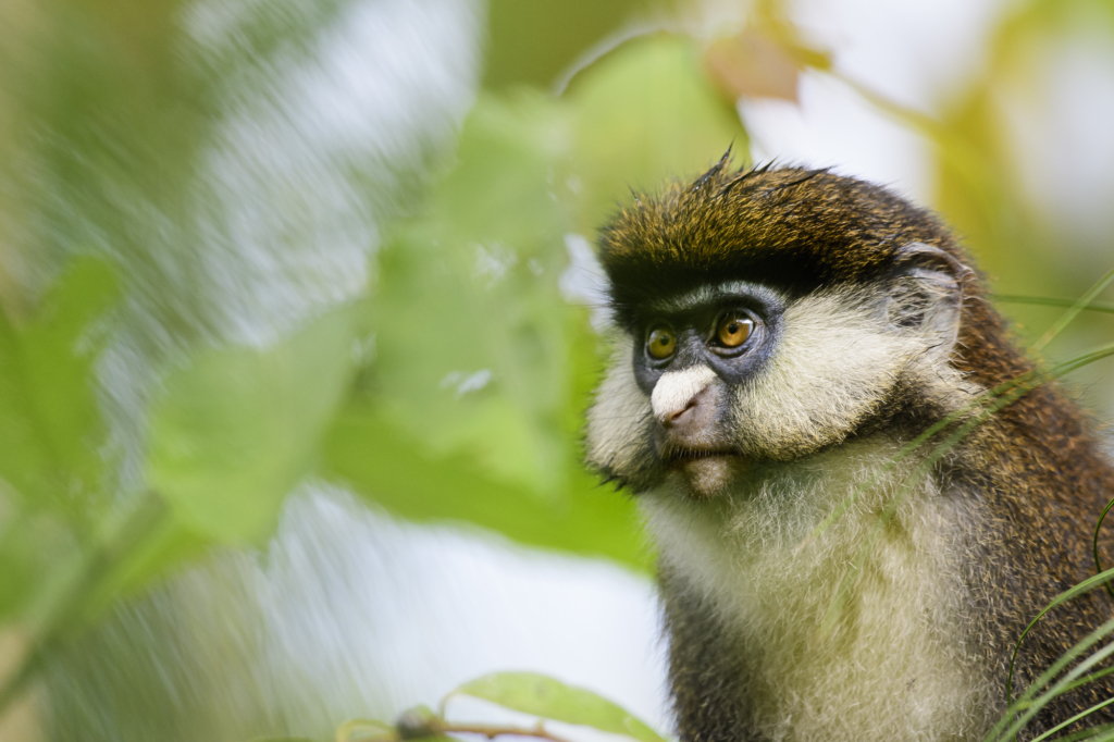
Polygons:
[[[656,548],[682,742],[983,739],[1027,624],[1095,574],[1114,469],[1052,383],[934,460],[947,429],[899,456],[1038,368],[970,255],[883,187],[734,169],[730,150],[619,206],[598,253],[615,349],[586,462]],[[1111,608],[1095,589],[1045,615],[1013,697]],[[1114,696],[1111,678],[1019,739]]]

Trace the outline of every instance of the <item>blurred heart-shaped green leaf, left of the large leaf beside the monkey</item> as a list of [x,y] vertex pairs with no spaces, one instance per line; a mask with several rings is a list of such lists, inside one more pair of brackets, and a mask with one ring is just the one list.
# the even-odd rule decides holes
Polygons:
[[222,541],[267,535],[346,388],[353,316],[345,307],[270,350],[209,351],[169,374],[147,482],[184,526]]

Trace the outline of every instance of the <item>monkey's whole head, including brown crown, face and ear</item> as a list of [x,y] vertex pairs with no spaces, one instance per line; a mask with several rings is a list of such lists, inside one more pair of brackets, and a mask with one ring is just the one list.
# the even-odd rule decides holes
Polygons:
[[619,338],[587,460],[634,492],[707,498],[971,393],[949,361],[970,271],[930,215],[823,170],[727,159],[602,234]]

